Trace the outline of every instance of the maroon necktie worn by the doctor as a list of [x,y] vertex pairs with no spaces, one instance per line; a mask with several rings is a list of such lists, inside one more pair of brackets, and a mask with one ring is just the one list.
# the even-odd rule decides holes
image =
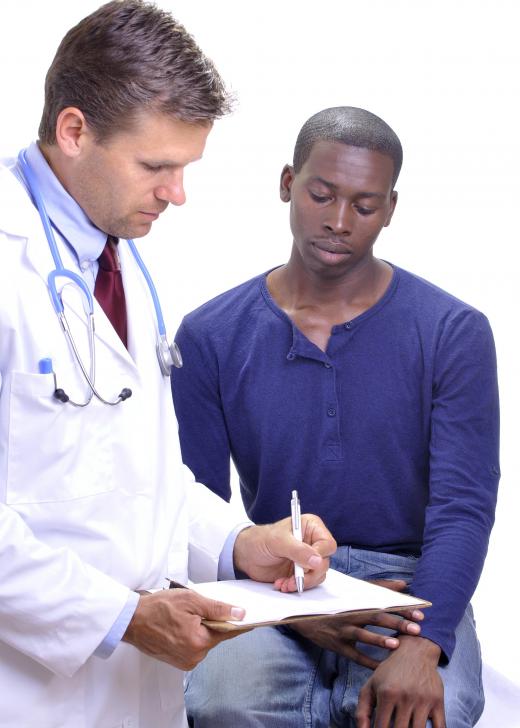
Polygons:
[[103,252],[98,258],[99,270],[94,287],[94,296],[127,346],[126,303],[123,277],[115,246],[117,238],[108,236]]

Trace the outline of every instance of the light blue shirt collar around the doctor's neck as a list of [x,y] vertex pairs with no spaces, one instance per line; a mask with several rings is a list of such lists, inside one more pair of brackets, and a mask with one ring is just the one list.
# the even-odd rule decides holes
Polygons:
[[75,252],[78,263],[93,262],[105,247],[107,235],[85,215],[56,177],[38,145],[26,151],[27,163],[39,186],[51,222]]

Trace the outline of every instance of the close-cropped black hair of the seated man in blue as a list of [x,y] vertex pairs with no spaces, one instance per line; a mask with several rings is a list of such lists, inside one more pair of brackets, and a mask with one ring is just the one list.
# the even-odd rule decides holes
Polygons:
[[386,121],[355,106],[334,106],[311,116],[300,129],[294,147],[293,167],[298,173],[319,141],[341,142],[391,157],[394,163],[392,185],[395,185],[403,163],[399,137]]

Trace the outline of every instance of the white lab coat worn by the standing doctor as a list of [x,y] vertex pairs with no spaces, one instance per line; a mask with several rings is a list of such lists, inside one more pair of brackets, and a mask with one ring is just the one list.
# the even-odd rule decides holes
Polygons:
[[[125,643],[107,660],[92,653],[130,589],[184,580],[188,558],[191,578],[216,578],[236,517],[182,464],[153,305],[126,244],[128,351],[95,304],[99,390],[133,392],[116,407],[62,404],[38,373],[51,357],[59,386],[87,393],[49,299],[39,216],[6,167],[0,255],[0,726],[180,728],[181,671]],[[82,299],[71,286],[64,299],[88,362]]]

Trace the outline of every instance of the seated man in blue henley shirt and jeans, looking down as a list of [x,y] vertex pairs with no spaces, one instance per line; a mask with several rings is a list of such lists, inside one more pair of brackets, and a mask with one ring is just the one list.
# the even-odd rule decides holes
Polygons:
[[[172,384],[199,481],[229,499],[231,455],[257,523],[297,488],[339,544],[334,568],[404,580],[433,606],[390,652],[335,622],[224,642],[188,680],[196,728],[463,728],[482,712],[469,601],[499,479],[494,344],[481,313],[374,256],[401,162],[374,114],[312,116],[280,179],[288,262],[186,316]],[[430,223],[449,235],[442,211]]]

